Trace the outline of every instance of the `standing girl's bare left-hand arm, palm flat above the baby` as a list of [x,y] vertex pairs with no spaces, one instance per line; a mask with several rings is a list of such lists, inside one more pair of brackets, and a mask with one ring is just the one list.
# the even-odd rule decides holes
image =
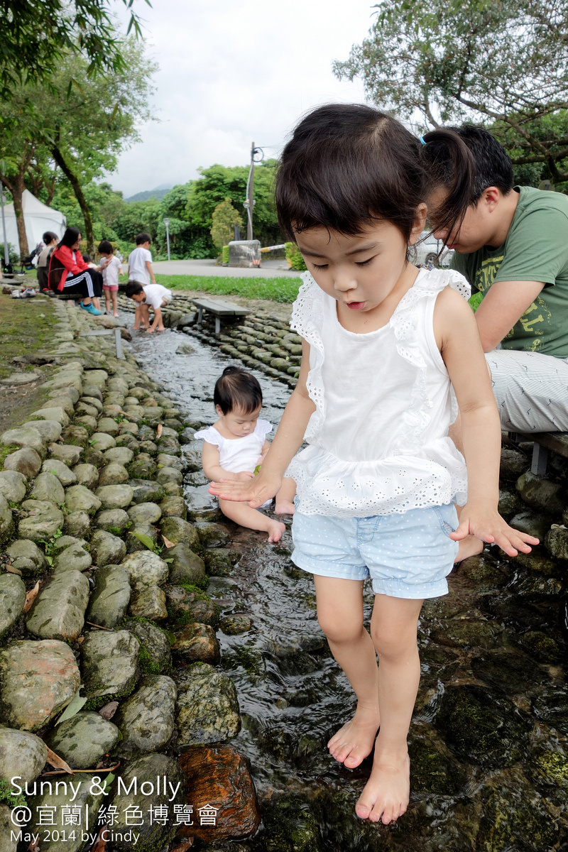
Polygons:
[[[315,411],[315,405],[307,393],[306,379],[310,370],[310,348],[305,340],[301,342],[301,368],[298,383],[284,409],[274,440],[262,469],[248,484],[216,481],[209,491],[224,500],[248,501],[253,509],[258,509],[266,500],[273,498],[282,484],[285,469],[294,458],[304,440],[307,422]],[[264,450],[264,447],[263,447]]]

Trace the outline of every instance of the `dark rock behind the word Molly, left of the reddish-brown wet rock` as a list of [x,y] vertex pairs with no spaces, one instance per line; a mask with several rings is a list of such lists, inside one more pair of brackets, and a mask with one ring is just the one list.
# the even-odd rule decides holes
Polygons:
[[[116,792],[112,799],[112,805],[116,808],[117,814],[112,827],[114,837],[126,838],[128,832],[134,830],[126,820],[129,813],[135,813],[137,811],[134,809],[139,809],[144,815],[144,822],[141,826],[135,827],[135,832],[139,835],[135,848],[140,852],[157,852],[167,848],[169,841],[179,828],[179,825],[175,824],[174,808],[186,802],[185,776],[177,762],[173,757],[166,757],[163,754],[143,755],[129,763],[122,774],[122,779],[121,790]],[[159,789],[158,779],[160,780]],[[148,798],[149,791],[152,791],[151,799]],[[151,825],[147,814],[150,801],[155,808],[165,809],[167,819],[152,820]],[[117,849],[125,849],[127,852],[133,849],[130,839],[113,840],[112,845]]]

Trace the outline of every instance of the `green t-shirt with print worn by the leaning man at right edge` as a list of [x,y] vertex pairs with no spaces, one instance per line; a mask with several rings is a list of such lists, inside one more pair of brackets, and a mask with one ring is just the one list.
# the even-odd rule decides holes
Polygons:
[[495,281],[542,281],[545,286],[502,348],[568,358],[568,198],[534,187],[513,191],[519,203],[503,245],[456,253],[452,267],[483,294]]

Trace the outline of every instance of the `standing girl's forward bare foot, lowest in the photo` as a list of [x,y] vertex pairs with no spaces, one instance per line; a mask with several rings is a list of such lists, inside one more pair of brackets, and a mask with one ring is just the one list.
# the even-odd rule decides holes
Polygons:
[[370,779],[355,805],[355,813],[361,820],[379,822],[385,826],[398,820],[407,807],[410,797],[410,759],[408,755],[393,759],[379,757],[375,761]]

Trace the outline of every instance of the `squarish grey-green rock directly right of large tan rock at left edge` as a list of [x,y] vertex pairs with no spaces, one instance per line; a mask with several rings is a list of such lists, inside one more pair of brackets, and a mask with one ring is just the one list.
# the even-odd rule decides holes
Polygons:
[[128,630],[91,630],[81,646],[84,695],[89,705],[129,695],[138,679],[140,645]]

